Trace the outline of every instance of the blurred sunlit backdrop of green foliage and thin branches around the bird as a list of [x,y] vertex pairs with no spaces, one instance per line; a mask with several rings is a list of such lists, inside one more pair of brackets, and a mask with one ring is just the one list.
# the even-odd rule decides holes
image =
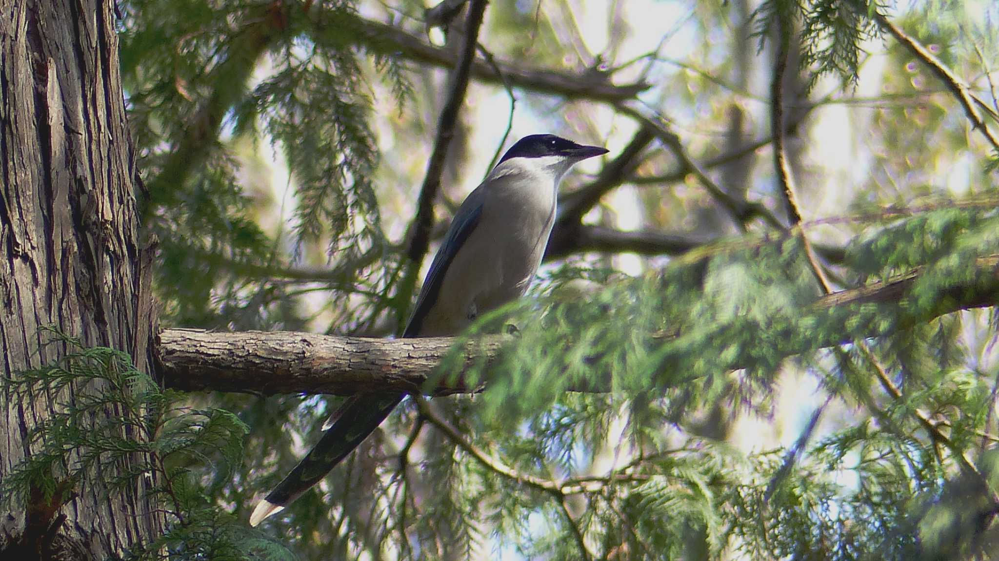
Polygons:
[[[119,0],[164,326],[397,331],[464,29],[431,7]],[[408,400],[263,532],[301,559],[994,559],[996,5],[486,14],[432,240],[520,136],[610,154],[563,183],[530,297],[481,322],[519,327],[486,391]],[[338,398],[186,399],[250,427],[231,481],[203,474],[245,519]]]

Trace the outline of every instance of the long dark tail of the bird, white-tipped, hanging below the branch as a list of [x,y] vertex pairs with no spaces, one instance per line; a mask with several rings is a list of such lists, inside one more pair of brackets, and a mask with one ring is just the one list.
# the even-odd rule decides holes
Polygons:
[[330,429],[312,451],[260,501],[250,515],[250,525],[256,526],[281,512],[318,483],[389,416],[404,396],[404,393],[359,394],[348,399],[327,421]]

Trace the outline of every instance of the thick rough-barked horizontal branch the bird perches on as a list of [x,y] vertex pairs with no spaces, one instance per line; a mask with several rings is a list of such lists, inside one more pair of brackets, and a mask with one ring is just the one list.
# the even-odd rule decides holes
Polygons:
[[[912,306],[897,305],[896,325],[904,327],[971,307],[999,304],[999,257],[978,261],[976,281],[952,286],[941,294],[930,313],[915,314]],[[832,292],[803,308],[802,314],[827,314],[831,308],[870,303],[901,304],[913,283],[912,272],[893,281],[874,282]],[[844,321],[849,314],[839,314]],[[819,343],[832,346],[842,335],[830,335]],[[883,333],[869,333],[875,336]],[[857,333],[852,333],[857,335]],[[166,329],[156,349],[160,379],[176,389],[238,391],[261,394],[336,393],[373,391],[417,391],[448,355],[454,337],[382,339],[344,337],[294,331],[217,332],[201,329]],[[489,363],[507,335],[492,335],[470,341],[465,366]],[[783,348],[786,356],[803,349]],[[461,377],[459,377],[461,379]],[[425,388],[426,389],[426,388]],[[472,392],[478,388],[458,382],[442,383],[436,394]],[[590,388],[580,388],[593,390]]]

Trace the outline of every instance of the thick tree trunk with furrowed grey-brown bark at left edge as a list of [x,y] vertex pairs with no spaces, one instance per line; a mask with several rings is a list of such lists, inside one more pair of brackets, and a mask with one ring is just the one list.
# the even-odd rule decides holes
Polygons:
[[[46,325],[125,350],[151,371],[149,253],[138,241],[111,0],[5,2],[0,65],[3,374],[65,354],[61,343],[44,344]],[[27,436],[55,397],[0,396],[0,479],[30,456]],[[113,475],[95,473],[66,504],[39,498],[0,513],[0,558],[17,548],[18,558],[104,559],[148,542],[161,528],[152,498],[141,488],[107,493]]]

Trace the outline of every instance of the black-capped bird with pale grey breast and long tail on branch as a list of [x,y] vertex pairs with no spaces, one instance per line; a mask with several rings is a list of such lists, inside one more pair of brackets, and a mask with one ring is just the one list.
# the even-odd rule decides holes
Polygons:
[[[514,143],[455,213],[402,336],[459,334],[479,314],[523,295],[554,225],[559,182],[576,163],[606,153],[550,134]],[[281,512],[323,479],[405,396],[348,398],[313,449],[257,504],[250,525]]]

